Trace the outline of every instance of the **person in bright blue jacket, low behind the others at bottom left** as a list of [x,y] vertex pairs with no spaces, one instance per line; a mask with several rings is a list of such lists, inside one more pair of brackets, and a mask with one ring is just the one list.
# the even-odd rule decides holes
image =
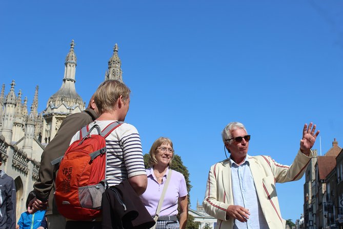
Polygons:
[[[35,191],[31,191],[29,196],[26,200],[26,209],[29,206],[29,202],[36,197]],[[45,217],[45,210],[44,211],[37,211],[33,214],[28,212],[22,213],[21,217],[18,220],[18,224],[16,226],[17,229],[36,229],[41,226],[42,220]]]

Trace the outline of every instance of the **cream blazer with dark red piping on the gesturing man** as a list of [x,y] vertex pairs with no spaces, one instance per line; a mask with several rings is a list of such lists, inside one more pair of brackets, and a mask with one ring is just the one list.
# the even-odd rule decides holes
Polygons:
[[[305,156],[300,150],[291,166],[278,164],[269,156],[249,156],[258,200],[270,229],[286,228],[275,183],[299,180],[310,161],[311,157]],[[226,209],[233,205],[230,159],[211,166],[203,205],[207,214],[217,219],[215,229],[233,228],[233,218],[226,218]]]

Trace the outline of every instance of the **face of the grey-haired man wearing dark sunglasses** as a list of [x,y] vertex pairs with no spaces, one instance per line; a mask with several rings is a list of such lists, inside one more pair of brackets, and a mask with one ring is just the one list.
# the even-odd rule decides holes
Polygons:
[[225,143],[226,147],[230,150],[231,157],[233,159],[245,157],[248,153],[249,142],[247,142],[244,138],[241,142],[236,142],[235,138],[248,135],[247,131],[244,129],[235,129],[231,132],[231,135],[231,138],[233,138],[231,144],[229,144],[228,141]]

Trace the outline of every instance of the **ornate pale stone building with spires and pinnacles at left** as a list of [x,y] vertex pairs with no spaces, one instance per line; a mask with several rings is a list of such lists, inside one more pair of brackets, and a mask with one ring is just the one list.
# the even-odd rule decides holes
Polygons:
[[[17,194],[16,216],[26,211],[26,198],[38,179],[41,155],[45,146],[54,138],[60,124],[71,113],[83,111],[85,102],[75,90],[76,54],[74,41],[65,59],[62,86],[47,102],[42,112],[38,108],[38,86],[28,112],[27,98],[22,100],[22,91],[15,94],[15,82],[5,96],[5,84],[0,93],[0,154],[3,169],[15,181]],[[32,72],[34,74],[34,72]],[[118,46],[108,62],[105,80],[122,79]],[[50,85],[49,85],[50,86]]]

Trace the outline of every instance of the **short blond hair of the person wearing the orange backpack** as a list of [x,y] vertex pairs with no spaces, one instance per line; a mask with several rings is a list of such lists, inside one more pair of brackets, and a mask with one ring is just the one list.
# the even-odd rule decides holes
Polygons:
[[94,93],[94,102],[102,114],[113,110],[114,104],[120,96],[123,96],[125,102],[130,96],[131,90],[118,80],[107,80],[101,83]]

